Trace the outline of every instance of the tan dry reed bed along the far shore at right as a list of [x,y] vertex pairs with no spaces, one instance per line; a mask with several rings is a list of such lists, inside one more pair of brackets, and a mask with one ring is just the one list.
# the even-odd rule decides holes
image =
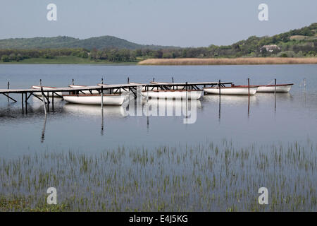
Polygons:
[[253,57],[253,58],[183,58],[183,59],[146,59],[139,65],[244,65],[244,64],[317,64],[317,57],[311,58],[282,58],[282,57]]

